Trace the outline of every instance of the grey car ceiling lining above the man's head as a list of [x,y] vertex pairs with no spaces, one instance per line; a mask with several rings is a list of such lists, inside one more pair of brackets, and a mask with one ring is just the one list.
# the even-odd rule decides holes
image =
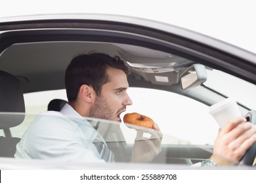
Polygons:
[[[24,93],[64,88],[64,73],[68,63],[77,54],[104,52],[119,56],[129,63],[172,63],[170,72],[145,73],[131,68],[131,78],[153,84],[167,85],[179,82],[179,65],[188,67],[192,61],[157,50],[104,42],[34,42],[14,44],[1,54],[0,68],[19,78]],[[129,66],[129,65],[128,65]],[[155,76],[168,77],[168,82],[158,82]],[[51,82],[49,82],[51,80]],[[42,85],[43,84],[43,85]],[[130,85],[133,85],[132,83]]]

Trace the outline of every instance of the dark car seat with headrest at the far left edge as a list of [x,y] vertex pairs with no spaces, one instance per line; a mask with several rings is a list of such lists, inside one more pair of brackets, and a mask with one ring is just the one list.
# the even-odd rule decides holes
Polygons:
[[[14,113],[12,113],[14,112]],[[25,103],[19,80],[5,71],[0,71],[0,156],[14,157],[18,137],[12,137],[10,128],[23,122]]]

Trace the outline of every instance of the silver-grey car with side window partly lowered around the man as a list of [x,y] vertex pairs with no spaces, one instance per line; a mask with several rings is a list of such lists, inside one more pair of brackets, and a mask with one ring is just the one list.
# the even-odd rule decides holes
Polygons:
[[[3,18],[0,70],[3,78],[11,75],[18,79],[21,88],[13,88],[9,80],[1,85],[1,101],[5,101],[0,108],[1,169],[98,167],[76,161],[67,164],[14,158],[16,143],[33,118],[44,110],[60,110],[66,103],[64,75],[68,63],[77,54],[90,52],[119,56],[125,61],[131,69],[128,92],[133,99],[125,113],[150,116],[163,132],[158,156],[149,163],[130,163],[136,130],[123,123],[89,118],[115,154],[116,164],[102,165],[106,169],[193,169],[191,165],[211,156],[219,129],[209,107],[227,98],[234,99],[241,115],[255,123],[253,52],[189,29],[129,16],[46,14]],[[49,109],[51,104],[54,109]],[[247,163],[237,168],[255,169],[255,152],[246,157]]]

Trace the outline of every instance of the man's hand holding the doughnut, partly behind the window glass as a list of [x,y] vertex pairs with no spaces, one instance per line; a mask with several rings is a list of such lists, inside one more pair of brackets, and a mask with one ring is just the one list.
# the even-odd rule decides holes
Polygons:
[[[143,137],[144,133],[149,133],[149,138]],[[161,152],[161,133],[158,125],[154,129],[139,129],[133,144],[131,162],[148,163],[151,162]]]

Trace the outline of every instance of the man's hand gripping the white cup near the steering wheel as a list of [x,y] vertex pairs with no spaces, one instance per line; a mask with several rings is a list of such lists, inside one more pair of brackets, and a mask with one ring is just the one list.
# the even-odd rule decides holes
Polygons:
[[246,150],[256,142],[256,125],[245,118],[232,119],[219,129],[211,159],[216,165],[236,165]]

